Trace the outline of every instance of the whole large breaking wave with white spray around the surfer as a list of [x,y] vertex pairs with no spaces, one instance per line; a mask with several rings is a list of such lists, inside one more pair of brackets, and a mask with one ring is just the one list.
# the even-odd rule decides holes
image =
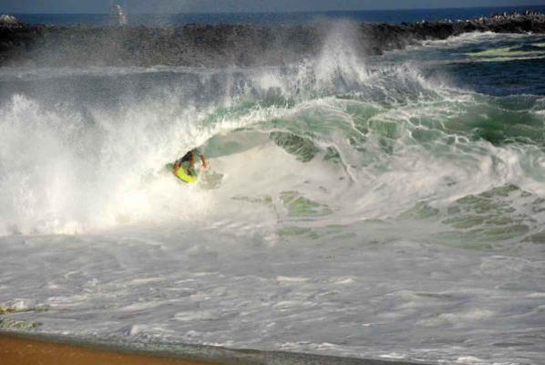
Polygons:
[[[511,215],[451,217],[469,197],[543,193],[542,98],[368,66],[349,35],[340,24],[320,57],[283,68],[3,70],[2,233],[264,214],[307,228],[433,215],[462,235]],[[163,166],[198,146],[211,171],[179,186]],[[502,204],[536,235],[521,196]]]

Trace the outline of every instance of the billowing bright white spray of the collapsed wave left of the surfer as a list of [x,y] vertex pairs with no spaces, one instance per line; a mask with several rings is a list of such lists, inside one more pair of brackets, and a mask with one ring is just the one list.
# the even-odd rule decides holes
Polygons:
[[0,111],[2,234],[81,233],[179,218],[176,207],[191,197],[206,206],[199,194],[170,196],[176,182],[159,173],[192,146],[194,128],[173,131],[191,130],[181,127],[190,116],[165,123],[160,105],[131,108],[92,110],[96,122],[89,124],[77,112],[47,110],[22,96],[6,103]]

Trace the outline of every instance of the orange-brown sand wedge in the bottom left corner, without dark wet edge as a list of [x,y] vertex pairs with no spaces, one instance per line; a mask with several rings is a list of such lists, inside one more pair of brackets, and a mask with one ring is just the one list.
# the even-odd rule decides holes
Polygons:
[[92,349],[84,346],[27,339],[0,334],[2,365],[206,365],[220,364],[198,360],[182,360],[147,354]]

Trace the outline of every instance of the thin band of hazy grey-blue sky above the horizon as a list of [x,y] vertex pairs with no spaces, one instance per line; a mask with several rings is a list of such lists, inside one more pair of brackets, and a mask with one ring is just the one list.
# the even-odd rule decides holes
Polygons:
[[[0,0],[1,13],[108,13],[112,0]],[[545,0],[120,0],[129,13],[239,13],[545,5]]]

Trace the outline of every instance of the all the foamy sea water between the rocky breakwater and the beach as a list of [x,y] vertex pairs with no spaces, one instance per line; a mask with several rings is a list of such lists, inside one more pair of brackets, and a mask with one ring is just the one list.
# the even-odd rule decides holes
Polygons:
[[[545,36],[283,68],[0,68],[0,327],[545,360]],[[162,168],[201,147],[183,185]]]

